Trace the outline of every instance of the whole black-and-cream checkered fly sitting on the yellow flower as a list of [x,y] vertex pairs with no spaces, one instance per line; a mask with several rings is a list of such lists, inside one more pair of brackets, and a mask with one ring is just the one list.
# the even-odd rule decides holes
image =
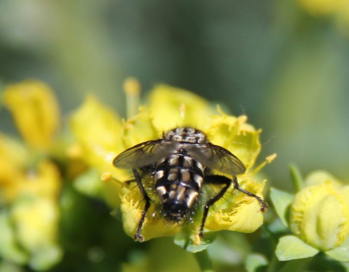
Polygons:
[[[165,219],[180,223],[187,214],[193,213],[205,184],[217,185],[214,193],[204,205],[199,236],[204,235],[208,210],[227,191],[233,182],[234,188],[256,198],[261,211],[268,204],[259,196],[241,189],[236,175],[245,172],[243,163],[227,149],[210,143],[206,135],[194,128],[178,127],[163,133],[157,140],[137,144],[119,154],[113,164],[120,168],[131,168],[138,188],[145,200],[141,220],[134,240],[143,242],[142,226],[152,199],[143,186],[148,177],[153,182],[156,195],[162,205]],[[213,170],[233,177],[233,180],[213,174]]]

